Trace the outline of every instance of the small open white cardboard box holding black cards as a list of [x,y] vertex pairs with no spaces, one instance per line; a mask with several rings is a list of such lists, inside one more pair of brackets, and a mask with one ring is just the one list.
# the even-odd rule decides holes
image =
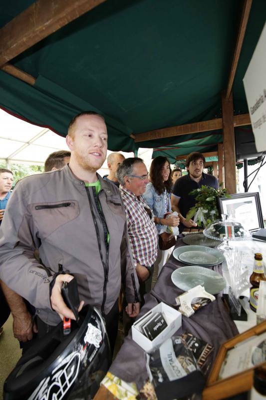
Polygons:
[[[167,327],[158,334],[153,340],[148,339],[142,332],[139,330],[138,325],[142,323],[143,319],[149,312],[163,312]],[[182,314],[175,310],[174,308],[170,307],[169,305],[161,302],[153,307],[151,310],[146,312],[139,320],[137,320],[132,325],[132,338],[133,340],[138,343],[145,351],[149,352],[154,347],[162,344],[166,339],[169,339],[182,325]]]

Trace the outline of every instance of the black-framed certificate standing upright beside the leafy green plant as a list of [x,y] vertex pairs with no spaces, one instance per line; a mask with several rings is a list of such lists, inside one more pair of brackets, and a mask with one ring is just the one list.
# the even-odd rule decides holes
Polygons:
[[259,192],[231,194],[231,198],[218,197],[219,212],[235,216],[250,232],[264,228]]

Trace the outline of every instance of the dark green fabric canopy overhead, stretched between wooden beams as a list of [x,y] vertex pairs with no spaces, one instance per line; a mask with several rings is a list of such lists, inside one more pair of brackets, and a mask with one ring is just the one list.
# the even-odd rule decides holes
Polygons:
[[[2,0],[0,26],[31,3]],[[111,150],[213,151],[221,131],[139,143],[130,134],[221,117],[242,6],[240,0],[107,0],[10,60],[36,81],[0,70],[0,107],[60,135],[77,112],[98,110]],[[235,113],[248,112],[242,80],[265,19],[265,0],[255,0],[233,85]]]

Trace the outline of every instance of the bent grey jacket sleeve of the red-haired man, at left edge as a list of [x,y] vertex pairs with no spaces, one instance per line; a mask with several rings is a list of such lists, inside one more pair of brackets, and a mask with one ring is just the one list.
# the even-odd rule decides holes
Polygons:
[[37,308],[49,308],[54,271],[34,257],[40,240],[19,182],[10,196],[0,227],[0,279]]

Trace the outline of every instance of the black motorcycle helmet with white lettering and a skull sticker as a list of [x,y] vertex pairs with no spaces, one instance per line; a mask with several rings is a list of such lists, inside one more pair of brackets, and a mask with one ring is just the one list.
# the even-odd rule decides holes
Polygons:
[[35,339],[3,386],[4,400],[90,399],[111,364],[105,322],[99,311],[85,306],[63,336],[60,322]]

